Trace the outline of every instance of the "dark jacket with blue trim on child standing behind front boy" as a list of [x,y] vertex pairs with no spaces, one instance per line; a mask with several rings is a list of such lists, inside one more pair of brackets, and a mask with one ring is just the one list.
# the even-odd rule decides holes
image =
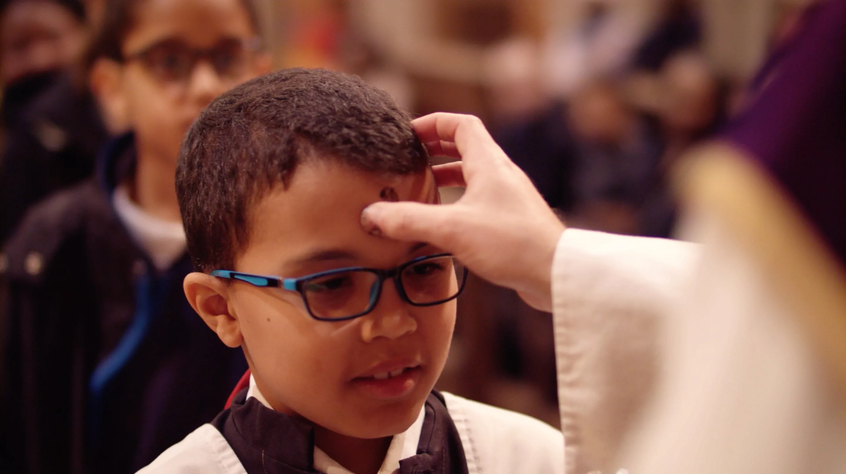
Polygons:
[[246,369],[185,300],[187,255],[158,272],[113,210],[132,136],[101,165],[36,204],[0,262],[4,471],[135,472],[210,422]]

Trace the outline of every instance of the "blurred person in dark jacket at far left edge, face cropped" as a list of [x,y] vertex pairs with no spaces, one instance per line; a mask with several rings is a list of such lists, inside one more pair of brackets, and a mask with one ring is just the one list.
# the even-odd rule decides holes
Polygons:
[[[30,205],[91,177],[108,139],[87,84],[91,61],[80,67],[82,45],[90,41],[86,15],[96,10],[95,2],[83,9],[74,0],[14,0],[5,10],[0,242]],[[24,70],[23,79],[10,79]]]

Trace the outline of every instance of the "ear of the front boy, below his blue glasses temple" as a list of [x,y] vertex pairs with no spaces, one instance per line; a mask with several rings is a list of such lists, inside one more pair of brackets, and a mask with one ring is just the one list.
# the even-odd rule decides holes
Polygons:
[[244,341],[238,319],[229,311],[228,287],[217,277],[194,272],[185,276],[182,287],[191,307],[200,314],[217,337],[229,347]]

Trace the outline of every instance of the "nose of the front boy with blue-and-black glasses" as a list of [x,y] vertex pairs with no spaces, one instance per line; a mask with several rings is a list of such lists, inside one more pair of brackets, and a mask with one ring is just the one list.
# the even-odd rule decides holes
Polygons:
[[361,319],[361,339],[365,342],[379,337],[395,340],[417,330],[417,320],[411,317],[409,305],[399,297],[390,280],[385,281],[376,308]]

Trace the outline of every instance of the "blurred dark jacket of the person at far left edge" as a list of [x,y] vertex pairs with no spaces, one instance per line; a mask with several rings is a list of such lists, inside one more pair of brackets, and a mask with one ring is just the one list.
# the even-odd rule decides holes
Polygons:
[[107,138],[91,92],[69,75],[32,101],[8,130],[0,158],[0,242],[30,205],[91,177]]

